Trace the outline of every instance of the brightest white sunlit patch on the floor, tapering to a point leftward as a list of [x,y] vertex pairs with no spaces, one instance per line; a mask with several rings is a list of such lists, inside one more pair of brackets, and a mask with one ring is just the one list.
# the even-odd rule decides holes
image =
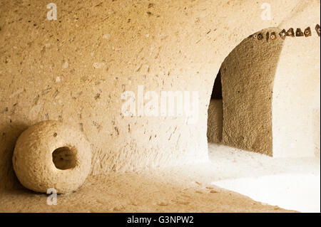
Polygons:
[[320,212],[320,176],[278,174],[214,181],[255,201],[300,212]]

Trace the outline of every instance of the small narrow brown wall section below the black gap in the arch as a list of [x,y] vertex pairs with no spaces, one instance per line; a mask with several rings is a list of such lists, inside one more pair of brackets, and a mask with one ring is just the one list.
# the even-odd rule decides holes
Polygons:
[[208,106],[208,142],[220,143],[223,130],[223,100],[210,100]]

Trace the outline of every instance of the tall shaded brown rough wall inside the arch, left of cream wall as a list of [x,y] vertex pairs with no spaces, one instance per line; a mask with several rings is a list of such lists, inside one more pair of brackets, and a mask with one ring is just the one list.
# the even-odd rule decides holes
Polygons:
[[221,68],[223,143],[272,156],[272,89],[283,40],[245,38]]

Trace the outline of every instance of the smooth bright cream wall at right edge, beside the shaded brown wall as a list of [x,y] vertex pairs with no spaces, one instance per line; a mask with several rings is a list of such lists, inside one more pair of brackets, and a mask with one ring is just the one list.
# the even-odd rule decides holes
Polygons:
[[274,157],[320,154],[320,1],[295,10],[279,28],[310,26],[312,36],[286,38],[282,48],[273,88]]

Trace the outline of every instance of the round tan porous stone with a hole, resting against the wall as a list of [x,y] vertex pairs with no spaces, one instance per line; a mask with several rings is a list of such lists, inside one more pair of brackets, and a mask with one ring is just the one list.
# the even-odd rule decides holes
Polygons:
[[[54,164],[53,152],[66,147],[71,151],[69,161],[74,167],[60,169]],[[62,150],[63,152],[63,150]],[[66,154],[61,161],[66,159]],[[72,159],[72,160],[71,160]],[[68,160],[65,160],[67,162]],[[58,121],[44,121],[25,130],[16,142],[12,158],[14,171],[27,189],[47,192],[56,189],[64,194],[78,189],[91,170],[91,147],[78,130]]]

